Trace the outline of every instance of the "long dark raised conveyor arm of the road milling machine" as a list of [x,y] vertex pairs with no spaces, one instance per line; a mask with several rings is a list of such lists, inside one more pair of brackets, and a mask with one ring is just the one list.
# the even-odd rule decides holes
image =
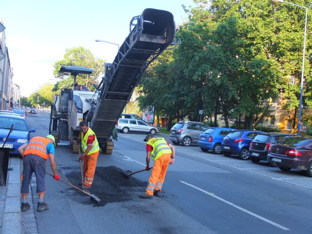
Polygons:
[[168,11],[145,9],[134,17],[135,25],[120,46],[114,62],[105,72],[108,83],[103,85],[91,127],[100,138],[109,138],[127,102],[148,65],[156,59],[175,38],[175,22]]

